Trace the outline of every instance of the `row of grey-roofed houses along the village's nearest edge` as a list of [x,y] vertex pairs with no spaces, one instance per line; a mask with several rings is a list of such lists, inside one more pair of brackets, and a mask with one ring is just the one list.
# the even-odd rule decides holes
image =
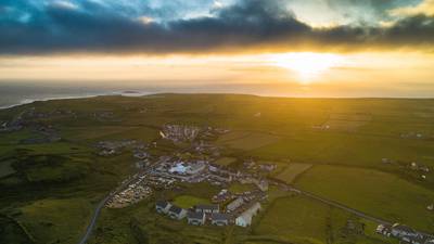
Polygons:
[[[235,207],[235,205],[232,207]],[[253,217],[260,210],[260,204],[252,204],[240,215],[233,215],[229,211],[222,213],[219,209],[219,205],[197,205],[192,209],[183,209],[166,201],[157,202],[155,204],[155,209],[157,213],[167,215],[171,219],[181,220],[187,218],[187,222],[193,226],[202,226],[209,222],[210,224],[219,227],[229,224],[250,227]]]

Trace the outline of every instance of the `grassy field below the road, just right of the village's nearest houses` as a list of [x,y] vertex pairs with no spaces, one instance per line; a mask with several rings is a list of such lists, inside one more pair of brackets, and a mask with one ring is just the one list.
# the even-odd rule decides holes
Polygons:
[[[303,196],[278,198],[261,216],[254,233],[271,240],[275,236],[301,244],[392,243],[371,234],[372,230],[366,230],[360,219]],[[355,229],[347,227],[348,221]]]

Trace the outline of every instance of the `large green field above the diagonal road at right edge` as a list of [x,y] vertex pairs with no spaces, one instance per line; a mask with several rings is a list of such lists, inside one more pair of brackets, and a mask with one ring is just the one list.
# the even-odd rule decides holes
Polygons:
[[375,217],[434,232],[426,206],[434,192],[394,175],[362,168],[314,166],[296,187]]

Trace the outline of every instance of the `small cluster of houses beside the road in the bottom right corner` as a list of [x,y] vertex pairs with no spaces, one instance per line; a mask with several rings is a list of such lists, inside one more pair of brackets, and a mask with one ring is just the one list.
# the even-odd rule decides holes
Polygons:
[[434,244],[433,236],[421,234],[410,227],[400,223],[395,223],[393,226],[379,224],[376,227],[376,233],[387,237],[398,239],[400,243],[406,244]]

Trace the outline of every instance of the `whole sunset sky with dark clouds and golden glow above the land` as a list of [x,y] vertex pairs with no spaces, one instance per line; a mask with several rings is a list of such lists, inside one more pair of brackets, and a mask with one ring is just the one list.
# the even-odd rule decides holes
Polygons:
[[0,0],[0,84],[433,97],[432,67],[434,0]]

